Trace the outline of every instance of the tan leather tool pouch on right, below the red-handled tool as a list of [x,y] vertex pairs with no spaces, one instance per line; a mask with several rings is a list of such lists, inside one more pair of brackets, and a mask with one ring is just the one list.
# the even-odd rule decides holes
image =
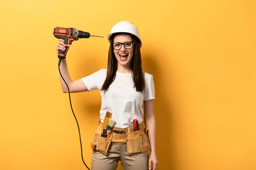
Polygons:
[[128,154],[141,153],[151,150],[148,141],[148,128],[145,127],[135,132],[126,132],[126,145]]

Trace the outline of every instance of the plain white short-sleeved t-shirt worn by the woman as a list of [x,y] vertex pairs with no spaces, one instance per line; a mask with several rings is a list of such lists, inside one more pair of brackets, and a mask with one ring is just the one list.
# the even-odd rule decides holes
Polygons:
[[116,72],[116,77],[108,91],[100,90],[106,79],[107,69],[101,69],[81,78],[88,91],[98,90],[102,96],[101,122],[104,121],[107,111],[112,113],[111,119],[116,122],[114,126],[116,128],[132,126],[133,119],[137,119],[139,124],[143,122],[143,102],[155,99],[153,76],[146,72],[143,73],[145,78],[144,94],[134,88],[132,74]]

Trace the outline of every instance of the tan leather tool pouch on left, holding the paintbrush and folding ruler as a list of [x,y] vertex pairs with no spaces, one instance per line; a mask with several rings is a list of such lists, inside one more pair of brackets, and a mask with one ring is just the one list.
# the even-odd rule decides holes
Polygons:
[[105,155],[108,153],[108,147],[111,144],[112,133],[107,131],[107,137],[102,137],[99,133],[99,129],[94,133],[90,147],[94,150],[97,150]]

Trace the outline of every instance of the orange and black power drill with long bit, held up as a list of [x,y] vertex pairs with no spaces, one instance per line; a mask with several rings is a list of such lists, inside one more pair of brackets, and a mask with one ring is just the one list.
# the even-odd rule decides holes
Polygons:
[[[79,38],[102,37],[97,35],[90,35],[89,32],[79,31],[76,28],[63,28],[63,27],[55,27],[53,29],[53,35],[58,39],[63,39],[65,41],[65,44],[72,44],[74,40],[77,41]],[[66,54],[64,53],[64,51],[60,50],[58,53],[59,66],[61,64],[61,59],[64,59],[65,57],[66,57]]]

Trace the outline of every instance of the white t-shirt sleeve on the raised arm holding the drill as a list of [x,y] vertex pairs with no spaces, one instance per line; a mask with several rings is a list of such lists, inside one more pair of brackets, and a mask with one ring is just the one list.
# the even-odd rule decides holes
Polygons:
[[99,90],[102,85],[102,79],[104,78],[104,71],[100,69],[87,77],[81,78],[88,91]]

